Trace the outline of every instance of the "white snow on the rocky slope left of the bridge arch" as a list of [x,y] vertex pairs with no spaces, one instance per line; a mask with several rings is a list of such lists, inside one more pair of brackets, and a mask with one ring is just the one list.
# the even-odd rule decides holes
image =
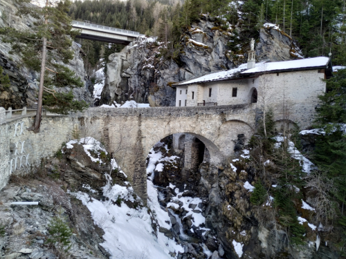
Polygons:
[[[102,151],[100,142],[91,137],[86,138],[84,151],[91,157],[89,150]],[[68,148],[73,148],[72,144],[78,143],[77,140],[66,144]],[[95,144],[95,146],[93,146]],[[94,158],[94,157],[93,157]],[[92,159],[93,159],[92,158]],[[101,244],[104,249],[111,253],[111,259],[115,258],[151,258],[151,259],[170,259],[170,252],[183,253],[184,249],[174,240],[171,240],[157,231],[157,236],[152,229],[151,217],[156,218],[161,227],[170,229],[170,217],[167,211],[161,209],[158,203],[158,193],[151,181],[147,181],[148,189],[148,207],[139,207],[131,209],[123,202],[140,202],[139,198],[134,196],[132,187],[115,184],[111,186],[111,176],[109,181],[103,187],[105,201],[90,198],[88,194],[78,191],[71,193],[89,209],[95,224],[104,230],[104,242]],[[86,189],[88,186],[86,186]],[[89,188],[90,189],[90,188]],[[135,198],[136,197],[136,198]],[[121,201],[121,206],[112,201]],[[152,213],[150,213],[152,211]]]

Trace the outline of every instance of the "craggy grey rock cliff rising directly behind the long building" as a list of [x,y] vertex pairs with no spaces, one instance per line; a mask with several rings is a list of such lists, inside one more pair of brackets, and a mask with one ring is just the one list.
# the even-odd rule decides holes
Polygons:
[[[238,27],[220,26],[208,15],[181,36],[179,49],[171,54],[163,42],[140,37],[109,56],[100,104],[134,99],[150,106],[174,106],[173,82],[245,63],[251,37]],[[256,42],[257,61],[299,57],[295,41],[275,26],[262,28]]]

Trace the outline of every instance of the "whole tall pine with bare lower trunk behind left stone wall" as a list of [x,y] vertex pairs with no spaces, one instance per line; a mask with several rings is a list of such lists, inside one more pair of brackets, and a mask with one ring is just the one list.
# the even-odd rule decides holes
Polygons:
[[[72,30],[71,19],[67,16],[71,1],[60,0],[49,3],[46,0],[44,8],[30,6],[30,0],[15,0],[18,7],[18,15],[31,15],[37,18],[34,26],[30,30],[15,30],[14,28],[3,28],[0,30],[3,41],[9,42],[12,46],[12,51],[21,55],[24,64],[29,68],[40,71],[39,79],[39,94],[37,102],[37,113],[34,125],[29,128],[35,133],[39,132],[39,126],[42,118],[42,106],[45,103],[55,111],[81,111],[88,105],[82,101],[80,103],[70,102],[70,93],[57,93],[52,87],[70,88],[81,87],[82,83],[79,78],[75,78],[75,74],[65,66],[58,66],[57,60],[63,61],[66,64],[73,58],[73,50],[71,37],[78,34]],[[48,74],[49,73],[49,74]],[[45,78],[50,79],[49,84],[45,84]],[[69,84],[60,84],[61,79]],[[55,84],[56,83],[56,84]],[[46,102],[43,100],[44,91],[46,92]],[[58,102],[48,102],[48,94],[53,95],[53,98],[59,99]],[[64,104],[64,108],[60,108]]]

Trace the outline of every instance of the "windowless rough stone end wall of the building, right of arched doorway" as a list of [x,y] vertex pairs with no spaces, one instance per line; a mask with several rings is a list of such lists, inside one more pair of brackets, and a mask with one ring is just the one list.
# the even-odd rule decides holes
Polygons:
[[298,122],[300,128],[313,123],[320,103],[319,95],[326,90],[324,73],[318,70],[304,70],[291,73],[277,73],[262,76],[258,90],[257,106],[273,108],[275,119],[289,119]]

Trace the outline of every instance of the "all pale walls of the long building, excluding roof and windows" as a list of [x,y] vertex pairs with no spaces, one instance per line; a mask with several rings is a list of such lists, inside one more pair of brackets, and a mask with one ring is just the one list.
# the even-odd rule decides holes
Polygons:
[[[301,128],[311,126],[315,107],[320,102],[318,95],[325,93],[324,73],[318,69],[285,73],[268,73],[256,78],[211,81],[188,86],[188,106],[197,103],[217,102],[217,105],[251,104],[251,95],[257,89],[257,104],[253,108],[273,108],[275,119],[289,119]],[[232,89],[237,88],[237,97]],[[209,88],[212,96],[209,97]],[[194,91],[194,99],[191,93]]]

